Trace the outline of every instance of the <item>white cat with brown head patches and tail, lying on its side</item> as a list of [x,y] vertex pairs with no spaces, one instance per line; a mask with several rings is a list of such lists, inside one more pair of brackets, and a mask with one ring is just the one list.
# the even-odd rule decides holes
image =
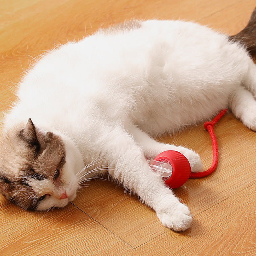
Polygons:
[[226,36],[192,22],[132,20],[49,51],[5,116],[0,192],[41,211],[66,206],[81,182],[108,174],[164,226],[188,229],[188,207],[147,159],[176,150],[200,172],[200,157],[153,138],[227,107],[256,130],[255,23],[254,10],[240,34]]

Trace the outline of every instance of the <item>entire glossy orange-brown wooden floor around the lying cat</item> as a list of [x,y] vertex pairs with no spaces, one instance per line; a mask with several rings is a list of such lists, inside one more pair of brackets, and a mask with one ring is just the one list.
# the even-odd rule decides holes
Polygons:
[[[22,73],[57,44],[131,18],[196,21],[235,34],[255,5],[255,0],[0,0],[0,118],[15,100]],[[23,211],[0,196],[0,255],[256,255],[256,133],[228,113],[216,135],[216,172],[175,190],[194,217],[188,231],[165,228],[135,196],[97,180],[72,204],[49,212]],[[158,140],[192,148],[205,168],[211,164],[203,125]]]

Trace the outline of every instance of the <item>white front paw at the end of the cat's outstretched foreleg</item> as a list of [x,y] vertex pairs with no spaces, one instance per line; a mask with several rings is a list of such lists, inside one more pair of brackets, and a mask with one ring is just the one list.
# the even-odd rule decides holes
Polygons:
[[180,202],[173,204],[170,208],[162,209],[156,212],[157,217],[163,225],[173,231],[185,231],[192,222],[192,216],[188,207]]

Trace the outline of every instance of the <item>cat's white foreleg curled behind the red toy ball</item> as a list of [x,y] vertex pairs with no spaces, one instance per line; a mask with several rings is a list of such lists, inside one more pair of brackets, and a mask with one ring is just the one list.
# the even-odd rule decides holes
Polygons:
[[155,158],[159,153],[166,150],[175,150],[183,154],[191,166],[191,172],[201,172],[203,169],[203,164],[200,157],[194,151],[184,148],[182,146],[174,146],[170,144],[164,144],[157,142],[152,139],[148,134],[141,131],[138,127],[132,126],[129,129],[134,140],[141,146],[143,153],[147,159]]

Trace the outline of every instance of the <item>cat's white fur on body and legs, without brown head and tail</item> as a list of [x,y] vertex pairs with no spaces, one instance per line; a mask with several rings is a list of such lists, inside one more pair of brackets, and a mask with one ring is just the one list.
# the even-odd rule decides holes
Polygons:
[[[190,226],[189,210],[146,158],[174,149],[188,158],[193,172],[202,164],[193,151],[149,136],[209,120],[227,107],[255,129],[255,80],[252,60],[225,35],[189,22],[149,20],[140,28],[96,33],[42,57],[20,83],[20,101],[6,128],[31,118],[36,126],[67,136],[66,151],[73,153],[65,172],[81,176],[98,168],[91,177],[108,166],[166,227],[180,231]],[[44,204],[39,208],[54,205]]]

